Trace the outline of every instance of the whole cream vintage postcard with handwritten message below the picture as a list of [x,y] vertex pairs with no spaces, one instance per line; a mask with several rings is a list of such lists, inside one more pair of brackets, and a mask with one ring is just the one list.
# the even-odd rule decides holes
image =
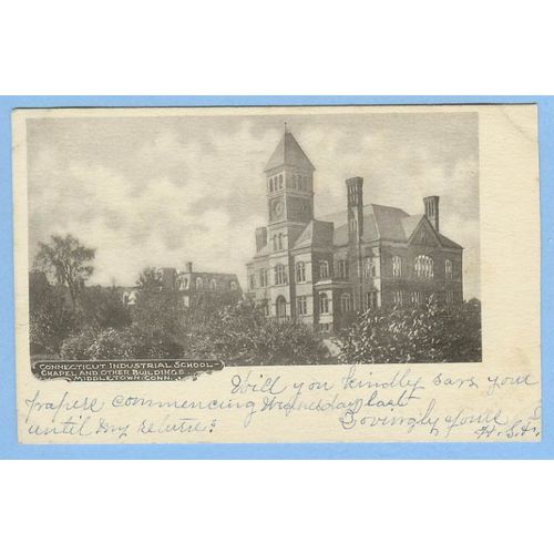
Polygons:
[[536,120],[13,111],[19,441],[541,441]]

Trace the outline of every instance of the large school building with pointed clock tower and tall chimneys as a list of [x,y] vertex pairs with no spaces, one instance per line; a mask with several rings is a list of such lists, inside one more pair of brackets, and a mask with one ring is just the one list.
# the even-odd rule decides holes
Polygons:
[[247,296],[267,317],[335,331],[368,308],[463,300],[463,248],[440,233],[438,196],[409,215],[363,204],[363,178],[352,177],[345,209],[316,219],[314,172],[285,131],[265,167],[268,223],[247,264]]

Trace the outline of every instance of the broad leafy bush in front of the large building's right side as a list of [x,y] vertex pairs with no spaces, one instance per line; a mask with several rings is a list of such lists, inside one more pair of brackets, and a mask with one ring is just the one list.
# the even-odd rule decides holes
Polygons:
[[481,302],[368,310],[341,341],[342,363],[481,361]]

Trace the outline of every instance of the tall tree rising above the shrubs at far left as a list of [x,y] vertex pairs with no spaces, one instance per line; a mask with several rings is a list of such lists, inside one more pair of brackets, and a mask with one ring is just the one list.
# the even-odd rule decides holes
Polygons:
[[95,250],[83,246],[72,235],[52,235],[50,243],[39,243],[34,267],[44,271],[59,286],[68,287],[71,302],[76,307],[84,283],[92,275]]

